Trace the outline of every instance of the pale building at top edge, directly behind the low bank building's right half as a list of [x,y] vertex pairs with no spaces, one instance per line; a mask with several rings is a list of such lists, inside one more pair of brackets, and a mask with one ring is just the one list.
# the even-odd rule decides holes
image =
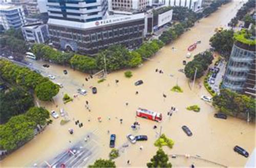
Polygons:
[[112,0],[111,4],[113,10],[143,10],[150,0]]

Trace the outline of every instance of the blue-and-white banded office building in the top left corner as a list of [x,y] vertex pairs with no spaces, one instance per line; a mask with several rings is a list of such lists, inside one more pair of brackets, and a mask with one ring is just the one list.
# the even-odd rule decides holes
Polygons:
[[5,30],[13,27],[18,29],[26,24],[26,17],[22,6],[14,6],[9,4],[0,5],[0,25]]

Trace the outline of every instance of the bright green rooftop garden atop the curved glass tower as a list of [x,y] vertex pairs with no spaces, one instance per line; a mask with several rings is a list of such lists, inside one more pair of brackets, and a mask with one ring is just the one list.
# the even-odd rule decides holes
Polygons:
[[256,40],[252,39],[251,37],[252,37],[252,34],[245,29],[242,29],[240,32],[234,33],[234,40],[247,45],[255,45]]

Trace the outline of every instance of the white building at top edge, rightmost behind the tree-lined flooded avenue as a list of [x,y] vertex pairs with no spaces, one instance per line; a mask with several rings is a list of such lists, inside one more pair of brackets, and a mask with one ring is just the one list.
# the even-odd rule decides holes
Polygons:
[[186,7],[196,12],[201,9],[202,1],[203,0],[159,0],[158,3],[165,6]]

